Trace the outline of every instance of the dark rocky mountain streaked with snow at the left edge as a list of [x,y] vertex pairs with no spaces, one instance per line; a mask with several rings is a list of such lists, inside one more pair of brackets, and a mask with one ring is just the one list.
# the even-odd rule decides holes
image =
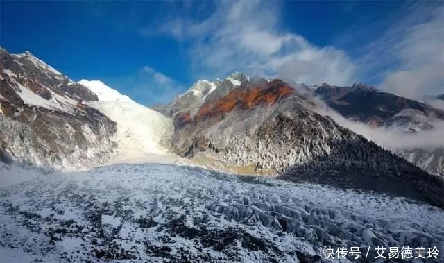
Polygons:
[[84,167],[112,153],[113,121],[87,87],[25,52],[0,49],[0,155],[41,167]]

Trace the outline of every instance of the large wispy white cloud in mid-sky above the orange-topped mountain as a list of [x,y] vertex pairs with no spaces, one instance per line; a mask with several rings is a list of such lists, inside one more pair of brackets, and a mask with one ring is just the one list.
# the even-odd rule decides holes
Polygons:
[[259,1],[221,1],[203,21],[189,17],[162,22],[160,31],[190,40],[189,58],[196,77],[215,78],[232,71],[281,77],[307,84],[348,85],[355,65],[332,46],[318,47],[280,30],[279,6]]

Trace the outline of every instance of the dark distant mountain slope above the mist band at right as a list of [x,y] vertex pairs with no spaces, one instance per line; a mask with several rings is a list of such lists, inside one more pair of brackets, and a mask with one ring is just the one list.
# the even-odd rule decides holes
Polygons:
[[363,84],[336,87],[323,83],[316,88],[315,94],[344,117],[371,126],[398,126],[419,131],[433,128],[436,120],[444,120],[442,110]]

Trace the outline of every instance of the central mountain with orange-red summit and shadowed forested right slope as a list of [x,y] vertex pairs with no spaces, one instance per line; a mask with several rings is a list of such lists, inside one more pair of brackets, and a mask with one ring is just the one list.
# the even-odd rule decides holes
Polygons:
[[281,80],[249,81],[203,103],[194,117],[176,119],[171,148],[237,173],[280,173],[287,180],[380,190],[443,205],[442,180],[309,110],[310,105]]

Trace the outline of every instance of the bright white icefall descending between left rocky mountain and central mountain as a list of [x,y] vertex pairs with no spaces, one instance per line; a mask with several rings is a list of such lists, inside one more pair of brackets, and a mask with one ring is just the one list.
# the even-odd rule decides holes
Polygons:
[[89,101],[88,105],[100,110],[117,124],[117,133],[113,137],[117,142],[114,158],[134,160],[147,154],[167,153],[173,135],[170,119],[136,103],[101,81],[80,80],[79,83],[99,96],[99,101]]

